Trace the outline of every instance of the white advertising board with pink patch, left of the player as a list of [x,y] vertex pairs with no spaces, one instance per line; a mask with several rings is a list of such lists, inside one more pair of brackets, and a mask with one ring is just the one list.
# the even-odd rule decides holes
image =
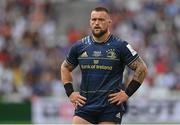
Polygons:
[[71,123],[73,105],[67,98],[37,98],[32,101],[32,122],[35,124]]

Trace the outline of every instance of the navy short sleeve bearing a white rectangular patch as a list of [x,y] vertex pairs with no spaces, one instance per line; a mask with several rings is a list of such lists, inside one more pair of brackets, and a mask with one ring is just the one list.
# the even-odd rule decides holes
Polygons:
[[131,64],[134,62],[139,56],[138,53],[133,49],[133,47],[124,41],[121,46],[121,58],[123,59],[126,65]]

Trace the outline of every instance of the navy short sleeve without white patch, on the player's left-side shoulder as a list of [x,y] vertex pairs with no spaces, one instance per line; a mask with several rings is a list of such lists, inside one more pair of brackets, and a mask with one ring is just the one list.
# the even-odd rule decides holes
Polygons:
[[74,44],[66,56],[66,62],[76,67],[78,65],[78,46]]

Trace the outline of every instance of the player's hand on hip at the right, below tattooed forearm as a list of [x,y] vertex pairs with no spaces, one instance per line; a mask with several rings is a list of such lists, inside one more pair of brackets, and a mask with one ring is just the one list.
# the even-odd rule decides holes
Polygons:
[[119,105],[120,103],[127,101],[128,98],[129,97],[125,91],[121,90],[120,92],[110,94],[108,101],[111,104],[116,103],[116,105]]

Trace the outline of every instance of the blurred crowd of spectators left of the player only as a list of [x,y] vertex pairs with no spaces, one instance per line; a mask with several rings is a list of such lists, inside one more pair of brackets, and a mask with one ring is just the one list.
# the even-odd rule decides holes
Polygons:
[[49,0],[7,0],[0,8],[0,97],[30,99],[60,92],[63,52]]

